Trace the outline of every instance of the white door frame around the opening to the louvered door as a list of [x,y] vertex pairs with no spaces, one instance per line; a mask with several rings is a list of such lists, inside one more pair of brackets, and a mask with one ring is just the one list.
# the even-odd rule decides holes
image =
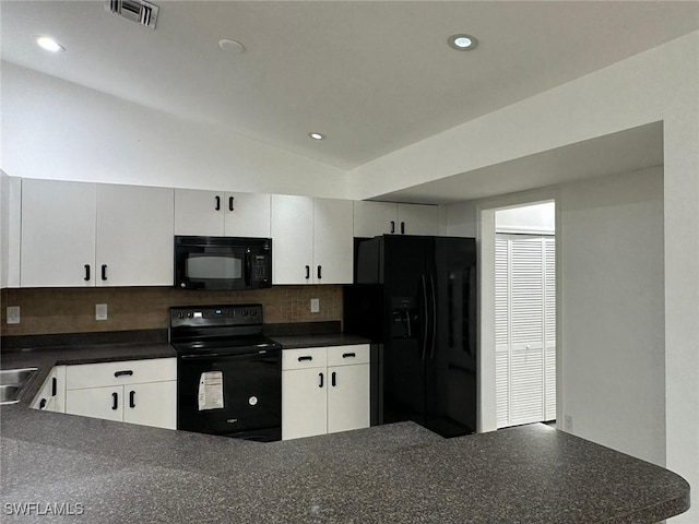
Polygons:
[[508,207],[555,203],[556,233],[556,426],[564,412],[561,350],[561,249],[560,191],[556,188],[484,199],[476,204],[476,249],[478,257],[478,418],[477,432],[497,429],[495,388],[495,213]]

